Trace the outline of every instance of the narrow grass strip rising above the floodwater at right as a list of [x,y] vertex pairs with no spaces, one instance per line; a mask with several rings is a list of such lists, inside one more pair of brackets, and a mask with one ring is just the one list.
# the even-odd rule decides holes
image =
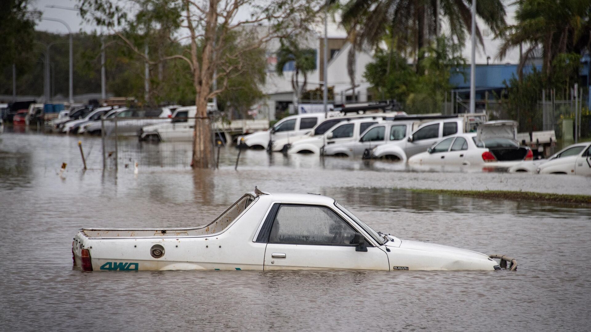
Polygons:
[[537,201],[555,204],[583,204],[591,206],[589,195],[532,193],[531,191],[508,190],[447,190],[447,189],[408,189],[414,193],[443,194],[452,196],[476,197],[486,199]]

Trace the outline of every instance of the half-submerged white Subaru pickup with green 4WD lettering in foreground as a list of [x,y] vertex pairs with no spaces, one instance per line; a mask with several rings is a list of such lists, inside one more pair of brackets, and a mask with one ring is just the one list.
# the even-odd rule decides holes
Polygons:
[[375,232],[333,198],[247,193],[217,219],[184,229],[81,229],[84,271],[517,268],[514,259]]

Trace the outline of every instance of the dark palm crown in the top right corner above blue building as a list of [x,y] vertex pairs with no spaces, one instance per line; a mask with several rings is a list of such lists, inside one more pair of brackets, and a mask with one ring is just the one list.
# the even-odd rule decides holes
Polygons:
[[528,60],[541,57],[542,72],[550,75],[558,54],[589,50],[591,0],[518,0],[517,5],[517,24],[506,27],[497,57],[525,44],[519,73]]

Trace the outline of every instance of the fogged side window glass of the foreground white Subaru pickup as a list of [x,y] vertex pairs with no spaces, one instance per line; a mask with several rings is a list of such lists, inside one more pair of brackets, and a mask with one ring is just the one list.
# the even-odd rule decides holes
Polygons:
[[355,230],[323,206],[282,205],[269,234],[270,243],[349,245]]

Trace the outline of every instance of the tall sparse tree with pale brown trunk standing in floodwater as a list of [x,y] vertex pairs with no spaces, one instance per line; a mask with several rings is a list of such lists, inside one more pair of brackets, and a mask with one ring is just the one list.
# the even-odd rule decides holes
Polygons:
[[[144,53],[134,41],[121,33],[122,28],[135,23],[128,13],[171,11],[170,15],[157,17],[167,22],[176,19],[178,25],[171,24],[176,28],[171,36],[187,47],[162,59],[182,60],[189,67],[197,106],[191,164],[208,168],[214,163],[207,102],[227,90],[234,77],[246,73],[249,61],[245,61],[244,56],[249,51],[264,47],[275,38],[309,30],[316,19],[319,3],[308,0],[79,0],[79,6],[83,15],[113,30],[140,55]],[[230,47],[226,38],[229,34],[239,35],[236,38],[239,47],[234,47],[234,43]]]

